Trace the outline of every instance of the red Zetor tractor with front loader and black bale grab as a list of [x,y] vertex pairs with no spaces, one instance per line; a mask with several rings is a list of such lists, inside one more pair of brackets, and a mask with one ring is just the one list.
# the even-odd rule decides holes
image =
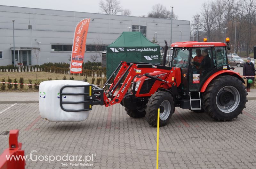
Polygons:
[[[81,102],[84,109],[71,111],[91,110],[95,104],[108,107],[121,103],[129,116],[146,116],[148,123],[153,126],[157,125],[158,108],[160,126],[169,122],[175,107],[203,111],[219,121],[237,118],[245,108],[247,92],[243,78],[230,70],[232,67],[228,64],[226,52],[230,49],[229,38],[226,43],[173,43],[172,60],[170,65],[164,66],[168,48],[165,41],[163,65],[122,61],[103,89],[85,85],[84,94],[81,94],[84,95],[84,102]],[[104,91],[111,79],[113,83]],[[124,83],[116,91],[121,81]],[[72,95],[62,93],[62,89],[60,95]],[[63,103],[60,96],[61,107]]]

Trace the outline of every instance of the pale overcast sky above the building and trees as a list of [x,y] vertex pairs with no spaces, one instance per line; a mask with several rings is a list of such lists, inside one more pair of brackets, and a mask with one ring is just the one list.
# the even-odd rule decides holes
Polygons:
[[[194,15],[200,13],[201,4],[208,1],[212,0],[121,0],[121,6],[132,11],[132,16],[147,16],[157,3],[163,4],[170,11],[170,6],[173,6],[178,19],[191,21]],[[102,13],[99,2],[100,0],[1,0],[0,5]]]

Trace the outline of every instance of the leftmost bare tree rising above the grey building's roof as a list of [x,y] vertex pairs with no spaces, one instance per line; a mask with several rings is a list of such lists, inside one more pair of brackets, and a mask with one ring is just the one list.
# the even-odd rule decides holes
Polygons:
[[118,0],[105,0],[100,1],[100,9],[106,14],[116,15],[119,12],[122,12],[122,6],[120,6],[120,1]]

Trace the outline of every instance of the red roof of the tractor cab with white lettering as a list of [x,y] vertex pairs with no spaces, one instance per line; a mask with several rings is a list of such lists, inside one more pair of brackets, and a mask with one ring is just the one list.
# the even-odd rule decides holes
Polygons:
[[214,47],[214,46],[227,46],[227,44],[222,42],[187,41],[187,42],[175,42],[175,43],[172,43],[171,45],[171,47]]

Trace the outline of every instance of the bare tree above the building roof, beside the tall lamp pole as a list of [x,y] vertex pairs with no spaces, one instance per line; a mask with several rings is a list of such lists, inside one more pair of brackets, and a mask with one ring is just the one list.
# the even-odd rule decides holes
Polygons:
[[[178,17],[173,13],[173,19],[178,19]],[[171,18],[171,12],[166,9],[162,4],[156,4],[152,6],[152,11],[148,14],[149,18]]]

